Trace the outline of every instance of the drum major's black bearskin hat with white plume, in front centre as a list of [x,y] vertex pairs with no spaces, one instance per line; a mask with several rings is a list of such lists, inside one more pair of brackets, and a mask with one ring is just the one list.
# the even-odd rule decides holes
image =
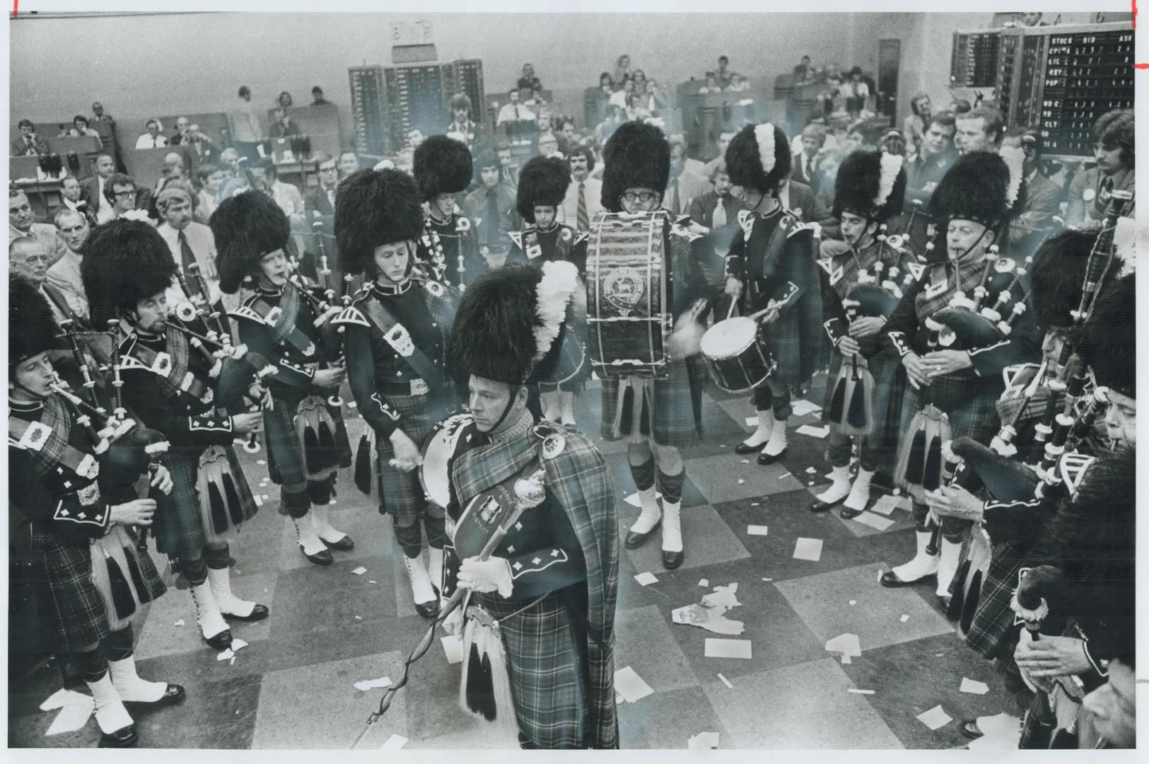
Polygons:
[[568,262],[526,263],[483,273],[463,293],[447,345],[447,372],[465,386],[471,375],[525,385],[558,361],[566,304],[578,288]]

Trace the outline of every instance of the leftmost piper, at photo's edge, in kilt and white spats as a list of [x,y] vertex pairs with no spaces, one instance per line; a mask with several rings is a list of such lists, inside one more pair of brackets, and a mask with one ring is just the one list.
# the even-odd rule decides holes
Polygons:
[[[138,740],[125,704],[156,707],[184,688],[136,671],[132,623],[167,591],[128,528],[152,524],[154,499],[138,499],[146,469],[107,469],[107,441],[88,415],[56,392],[47,358],[57,346],[52,309],[21,278],[8,288],[8,501],[13,562],[31,569],[46,647],[67,658],[94,699],[101,748]],[[55,389],[54,389],[55,388]],[[105,469],[101,469],[105,468]],[[151,485],[171,491],[159,466]],[[21,564],[23,563],[23,564]]]

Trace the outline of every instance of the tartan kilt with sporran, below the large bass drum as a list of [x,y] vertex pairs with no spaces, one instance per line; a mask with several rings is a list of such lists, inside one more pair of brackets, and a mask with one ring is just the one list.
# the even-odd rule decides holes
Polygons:
[[[697,441],[691,402],[691,375],[686,361],[671,361],[666,379],[604,377],[602,379],[602,431],[607,440],[619,440],[635,431],[654,437],[660,446],[686,446]],[[626,388],[633,391],[626,394]]]

